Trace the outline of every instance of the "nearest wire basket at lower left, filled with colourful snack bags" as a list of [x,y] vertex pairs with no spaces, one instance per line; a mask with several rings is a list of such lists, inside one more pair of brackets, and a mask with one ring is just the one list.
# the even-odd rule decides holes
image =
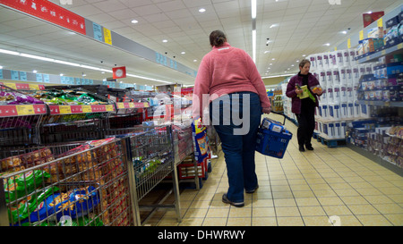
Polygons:
[[133,225],[122,140],[21,147],[0,156],[0,225]]

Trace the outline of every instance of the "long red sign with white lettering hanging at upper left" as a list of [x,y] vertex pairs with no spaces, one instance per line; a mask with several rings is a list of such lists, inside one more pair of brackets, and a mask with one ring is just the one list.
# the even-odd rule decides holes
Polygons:
[[83,35],[86,34],[83,17],[47,0],[0,0],[0,4]]

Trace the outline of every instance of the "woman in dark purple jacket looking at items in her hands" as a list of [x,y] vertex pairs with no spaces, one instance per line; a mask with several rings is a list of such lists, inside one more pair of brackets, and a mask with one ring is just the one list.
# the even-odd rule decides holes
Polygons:
[[[313,130],[315,129],[315,106],[319,105],[318,97],[322,95],[322,89],[313,89],[319,85],[319,81],[309,72],[311,63],[309,60],[304,59],[299,63],[299,71],[297,75],[293,76],[287,85],[286,96],[291,97],[291,112],[296,114],[298,121],[298,129],[296,130],[296,137],[298,139],[299,151],[304,152],[304,146],[308,150],[313,150],[311,138]],[[297,95],[303,93],[303,90],[297,88],[307,85],[309,91],[314,97],[300,99]]]

